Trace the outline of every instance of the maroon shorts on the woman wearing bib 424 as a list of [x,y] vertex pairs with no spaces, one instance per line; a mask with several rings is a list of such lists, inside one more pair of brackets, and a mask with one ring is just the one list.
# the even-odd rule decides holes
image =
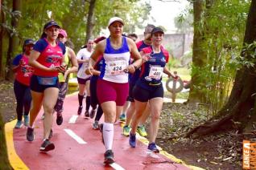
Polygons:
[[100,103],[114,101],[123,106],[129,94],[129,83],[113,83],[104,79],[97,80],[97,99]]

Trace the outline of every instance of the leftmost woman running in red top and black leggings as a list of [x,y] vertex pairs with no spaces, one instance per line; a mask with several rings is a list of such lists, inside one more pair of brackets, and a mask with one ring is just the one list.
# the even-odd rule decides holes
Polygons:
[[14,95],[17,101],[16,113],[17,123],[15,128],[20,128],[29,123],[29,110],[31,109],[31,89],[29,84],[31,82],[31,75],[33,68],[28,65],[29,55],[33,49],[35,42],[32,39],[26,39],[23,43],[23,54],[17,55],[13,60],[13,71],[15,72],[14,80]]

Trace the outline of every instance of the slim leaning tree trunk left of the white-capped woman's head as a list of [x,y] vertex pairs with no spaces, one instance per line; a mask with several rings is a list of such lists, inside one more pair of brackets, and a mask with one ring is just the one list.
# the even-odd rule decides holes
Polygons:
[[93,37],[93,16],[94,16],[94,8],[95,8],[96,0],[90,0],[89,4],[89,13],[87,18],[87,24],[86,24],[86,38],[85,38],[85,44],[88,42],[89,38]]

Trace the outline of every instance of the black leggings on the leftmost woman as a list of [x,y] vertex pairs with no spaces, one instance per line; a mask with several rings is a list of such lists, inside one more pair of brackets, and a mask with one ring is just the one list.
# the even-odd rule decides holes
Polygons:
[[17,100],[17,119],[23,119],[24,115],[28,115],[31,109],[31,90],[29,86],[19,83],[17,80],[14,81],[14,94]]

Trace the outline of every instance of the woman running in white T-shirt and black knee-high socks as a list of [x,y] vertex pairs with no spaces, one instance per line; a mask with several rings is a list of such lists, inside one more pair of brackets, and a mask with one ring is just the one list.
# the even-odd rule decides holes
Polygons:
[[87,75],[85,73],[85,70],[88,68],[89,57],[93,53],[93,44],[94,44],[93,39],[89,39],[86,44],[86,48],[82,48],[80,51],[78,51],[76,55],[76,59],[78,63],[82,64],[77,73],[77,82],[78,82],[78,88],[79,88],[79,93],[78,93],[79,107],[78,107],[77,114],[81,115],[81,112],[83,110],[83,99],[86,91],[85,117],[89,117],[89,107],[90,107],[89,85],[90,85],[90,79],[91,79],[91,75]]

